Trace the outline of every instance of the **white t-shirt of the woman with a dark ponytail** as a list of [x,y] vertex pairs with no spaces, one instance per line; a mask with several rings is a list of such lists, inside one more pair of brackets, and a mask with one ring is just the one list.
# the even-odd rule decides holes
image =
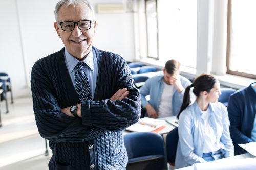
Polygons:
[[203,153],[218,151],[220,149],[220,141],[216,141],[214,129],[209,124],[209,109],[202,111],[202,113],[205,129]]

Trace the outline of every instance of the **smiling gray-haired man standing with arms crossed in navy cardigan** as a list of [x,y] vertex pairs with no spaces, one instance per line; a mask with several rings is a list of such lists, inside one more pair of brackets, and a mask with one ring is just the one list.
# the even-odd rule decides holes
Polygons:
[[140,93],[119,55],[92,46],[96,21],[85,0],[61,0],[54,27],[65,45],[38,60],[31,90],[49,169],[125,169],[122,130],[140,117]]

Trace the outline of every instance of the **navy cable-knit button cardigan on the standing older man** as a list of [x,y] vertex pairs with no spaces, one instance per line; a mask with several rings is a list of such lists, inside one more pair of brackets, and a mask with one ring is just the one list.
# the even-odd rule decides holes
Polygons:
[[[80,103],[64,48],[32,68],[36,124],[53,151],[49,169],[123,169],[127,164],[122,130],[140,117],[140,93],[123,58],[95,47],[93,51],[98,60],[97,84],[93,101],[82,101],[82,118],[61,113],[62,108]],[[128,98],[109,100],[124,87],[130,91]]]

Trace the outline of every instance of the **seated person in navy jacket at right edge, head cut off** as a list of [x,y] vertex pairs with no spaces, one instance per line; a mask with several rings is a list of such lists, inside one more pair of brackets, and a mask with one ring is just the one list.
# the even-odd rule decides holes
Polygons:
[[234,92],[228,101],[234,155],[246,153],[238,144],[256,141],[256,82]]

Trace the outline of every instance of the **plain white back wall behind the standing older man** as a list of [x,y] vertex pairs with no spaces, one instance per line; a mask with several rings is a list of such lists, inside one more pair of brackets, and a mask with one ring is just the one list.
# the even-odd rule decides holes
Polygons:
[[[14,97],[31,95],[30,74],[40,58],[63,47],[53,27],[54,7],[58,0],[1,0],[0,72],[7,72],[12,81]],[[120,54],[132,61],[134,51],[133,13],[98,14],[98,3],[92,1],[96,12],[97,28],[94,46]],[[112,0],[124,3],[129,0]],[[20,23],[20,25],[19,25]]]

